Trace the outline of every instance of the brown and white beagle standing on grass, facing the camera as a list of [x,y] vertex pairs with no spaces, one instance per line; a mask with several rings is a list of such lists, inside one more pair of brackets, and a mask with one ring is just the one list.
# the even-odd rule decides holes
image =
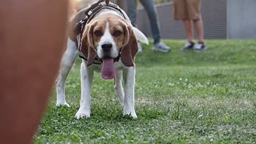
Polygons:
[[[79,11],[71,22],[71,29],[85,17],[85,9]],[[123,11],[123,10],[122,10]],[[123,11],[125,14],[125,12]],[[91,87],[94,71],[100,72],[103,79],[114,79],[123,115],[137,118],[135,112],[135,56],[138,43],[148,44],[147,37],[131,25],[117,10],[102,9],[85,25],[80,39],[69,34],[67,50],[63,54],[59,76],[56,80],[56,105],[69,106],[65,99],[65,80],[80,55],[84,59],[80,67],[82,97],[75,118],[89,118],[91,108]],[[120,59],[119,59],[120,57]],[[119,61],[118,61],[119,59]],[[121,79],[123,77],[124,88]]]

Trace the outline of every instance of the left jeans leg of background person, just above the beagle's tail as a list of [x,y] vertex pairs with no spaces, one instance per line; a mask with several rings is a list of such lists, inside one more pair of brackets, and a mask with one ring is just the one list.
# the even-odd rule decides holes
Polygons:
[[132,26],[137,27],[136,24],[136,13],[137,13],[137,1],[136,0],[127,0],[127,15],[131,20]]

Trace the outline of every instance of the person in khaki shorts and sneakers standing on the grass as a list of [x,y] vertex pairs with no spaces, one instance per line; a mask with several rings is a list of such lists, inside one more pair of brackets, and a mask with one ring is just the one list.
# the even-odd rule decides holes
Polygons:
[[[182,51],[194,49],[194,52],[207,50],[203,40],[203,22],[201,17],[201,0],[173,0],[173,14],[175,20],[183,20],[188,43]],[[198,44],[195,44],[193,35],[193,23],[195,25]]]

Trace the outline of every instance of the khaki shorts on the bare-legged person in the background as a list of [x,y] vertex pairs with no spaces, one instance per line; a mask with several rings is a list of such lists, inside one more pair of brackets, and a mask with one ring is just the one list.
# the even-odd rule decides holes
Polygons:
[[201,19],[201,0],[173,0],[174,19]]

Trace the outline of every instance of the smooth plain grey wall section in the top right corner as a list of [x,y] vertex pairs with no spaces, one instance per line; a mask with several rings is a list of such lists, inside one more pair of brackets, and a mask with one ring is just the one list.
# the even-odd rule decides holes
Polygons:
[[228,38],[256,38],[256,0],[228,0]]

